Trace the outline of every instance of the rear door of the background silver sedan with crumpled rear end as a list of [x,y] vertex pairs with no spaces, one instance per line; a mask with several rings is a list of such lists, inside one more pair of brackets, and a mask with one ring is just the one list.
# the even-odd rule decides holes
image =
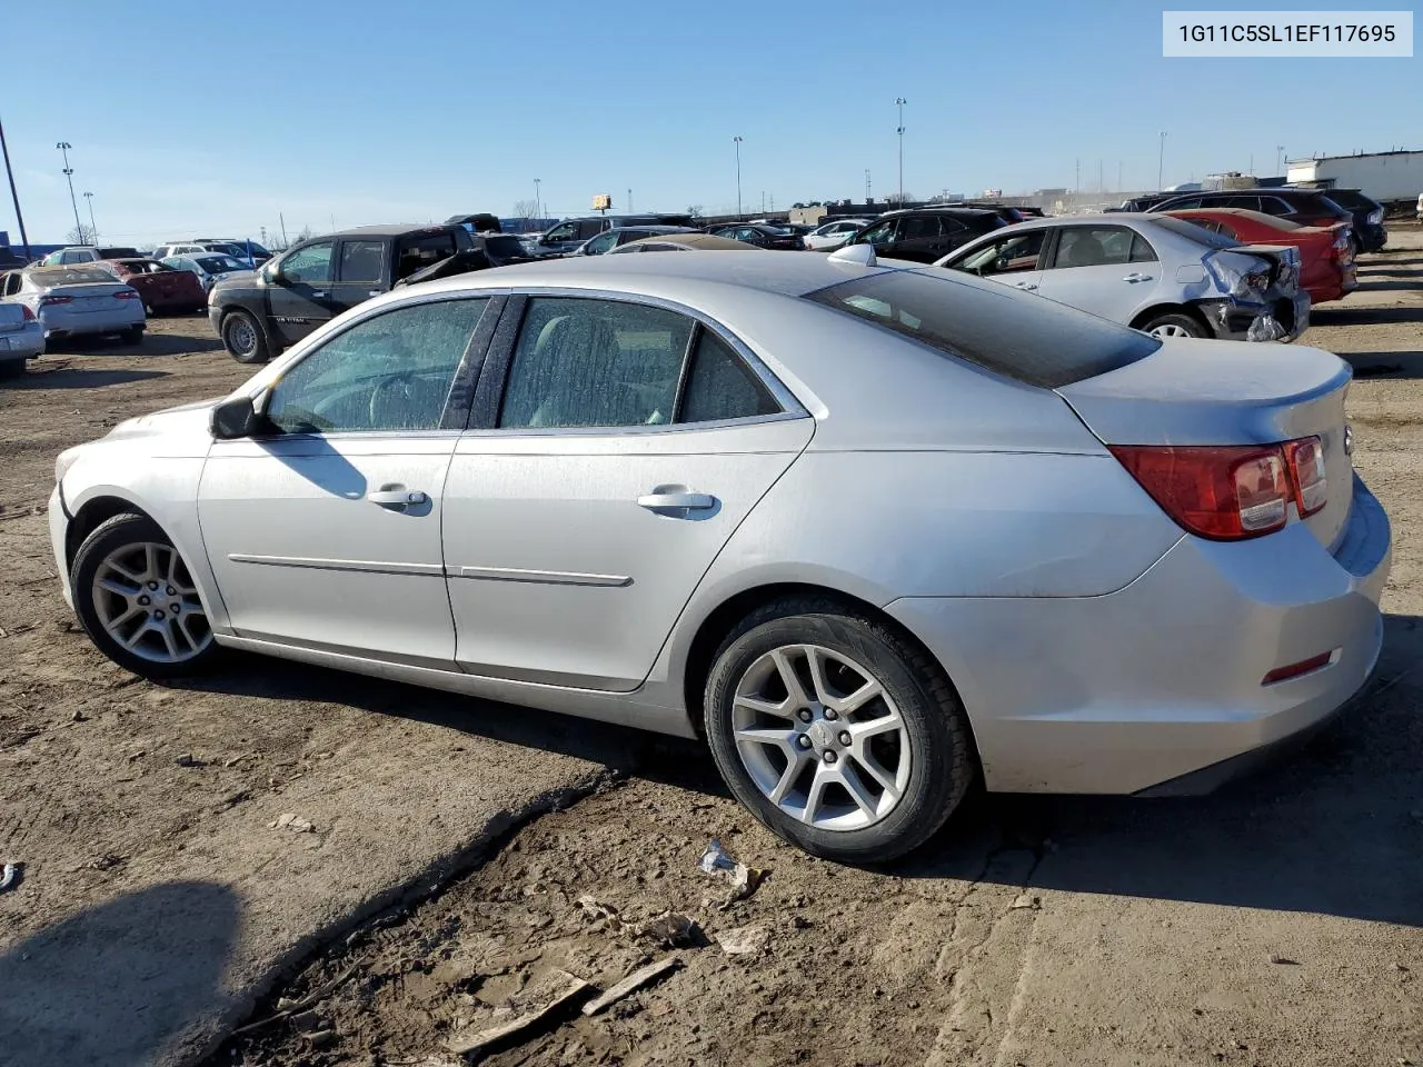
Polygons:
[[1037,292],[1069,307],[1130,323],[1155,302],[1161,263],[1130,226],[1059,226]]

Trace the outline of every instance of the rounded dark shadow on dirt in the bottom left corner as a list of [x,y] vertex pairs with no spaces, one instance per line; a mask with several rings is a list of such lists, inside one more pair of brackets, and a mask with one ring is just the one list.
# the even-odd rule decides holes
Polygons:
[[166,882],[9,945],[0,1060],[139,1067],[164,1058],[185,1029],[229,1000],[223,975],[239,920],[231,888]]

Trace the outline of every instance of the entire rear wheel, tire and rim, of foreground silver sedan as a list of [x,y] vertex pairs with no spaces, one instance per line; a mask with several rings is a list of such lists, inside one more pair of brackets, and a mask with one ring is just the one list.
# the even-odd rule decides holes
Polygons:
[[[787,664],[807,704],[790,694]],[[854,704],[871,681],[879,696],[831,707],[847,694]],[[778,713],[766,710],[776,703]],[[788,714],[797,704],[800,714]],[[778,837],[838,862],[878,864],[918,848],[978,773],[968,716],[943,670],[894,627],[831,598],[790,598],[747,616],[716,653],[704,720],[736,798]],[[868,737],[847,731],[869,724],[879,730]],[[764,733],[739,740],[739,728]],[[859,804],[845,781],[858,782]]]

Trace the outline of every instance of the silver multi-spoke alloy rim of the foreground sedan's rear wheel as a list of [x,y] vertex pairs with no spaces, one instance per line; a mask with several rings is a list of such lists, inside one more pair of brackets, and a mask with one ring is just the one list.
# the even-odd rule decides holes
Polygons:
[[881,822],[909,784],[909,734],[884,683],[818,644],[787,644],[751,663],[731,726],[761,794],[815,829]]

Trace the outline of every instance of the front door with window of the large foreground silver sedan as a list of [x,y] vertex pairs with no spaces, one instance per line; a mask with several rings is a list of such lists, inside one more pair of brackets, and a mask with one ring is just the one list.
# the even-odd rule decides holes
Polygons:
[[488,297],[353,323],[273,371],[268,431],[215,441],[198,488],[238,636],[453,669],[440,524]]

